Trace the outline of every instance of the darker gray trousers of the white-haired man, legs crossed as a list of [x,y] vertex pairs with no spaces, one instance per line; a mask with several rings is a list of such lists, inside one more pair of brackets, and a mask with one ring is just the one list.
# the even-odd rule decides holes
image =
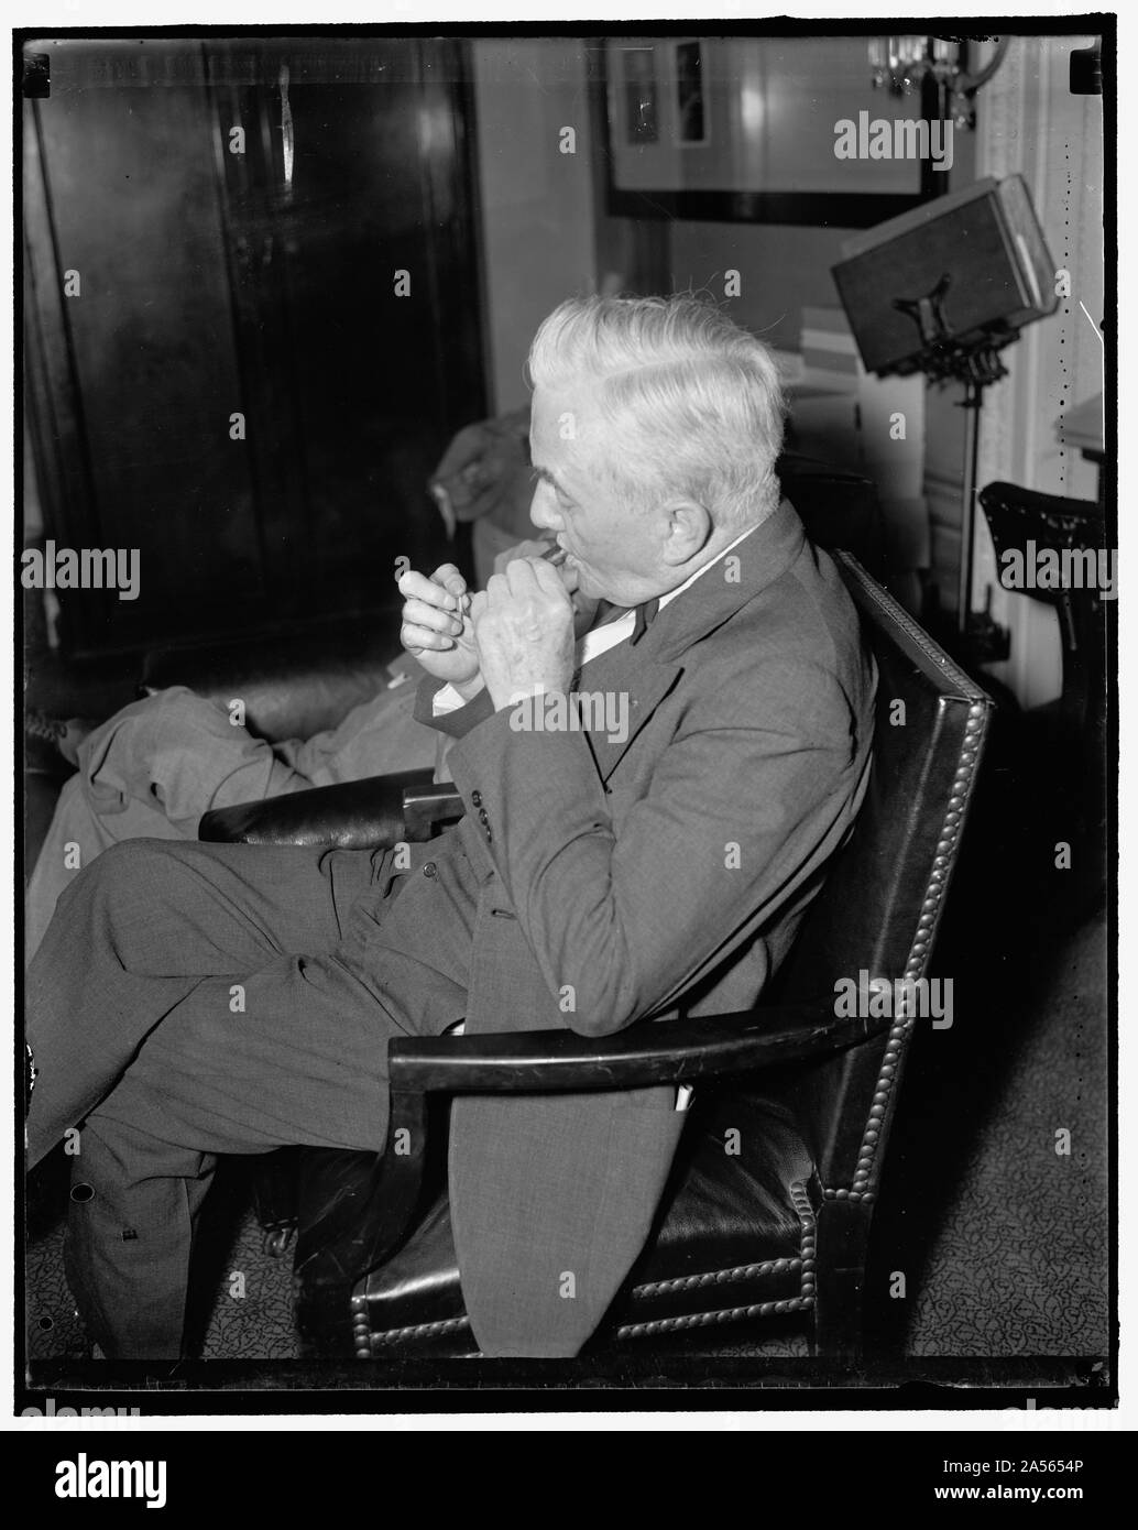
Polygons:
[[67,1134],[67,1276],[107,1356],[180,1354],[217,1154],[381,1151],[389,1039],[463,1014],[462,939],[422,985],[376,942],[390,861],[136,840],[63,894],[28,978],[28,1154]]

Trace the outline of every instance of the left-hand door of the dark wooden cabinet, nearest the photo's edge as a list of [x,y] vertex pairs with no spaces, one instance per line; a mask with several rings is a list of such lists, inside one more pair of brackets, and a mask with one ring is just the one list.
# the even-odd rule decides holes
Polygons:
[[[138,52],[138,46],[136,46]],[[49,536],[139,551],[141,592],[60,591],[78,652],[265,604],[200,52],[132,73],[124,44],[52,49],[26,107],[28,364]]]

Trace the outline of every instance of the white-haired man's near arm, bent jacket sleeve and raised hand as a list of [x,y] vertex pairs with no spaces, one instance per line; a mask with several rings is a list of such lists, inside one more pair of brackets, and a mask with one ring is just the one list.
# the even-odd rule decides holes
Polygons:
[[479,794],[551,993],[575,994],[566,1024],[618,1031],[667,1010],[800,897],[844,832],[861,727],[818,662],[723,646],[671,719],[645,796],[615,811],[583,731],[517,725],[519,696],[569,690],[572,617],[554,571],[517,563],[474,598],[473,623],[494,715],[456,745],[454,783],[467,802]]

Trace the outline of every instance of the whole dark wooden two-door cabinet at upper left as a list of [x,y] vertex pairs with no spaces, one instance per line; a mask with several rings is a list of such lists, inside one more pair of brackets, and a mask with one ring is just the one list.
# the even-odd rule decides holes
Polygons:
[[66,649],[390,615],[396,557],[444,551],[427,474],[485,413],[465,46],[31,49],[52,70],[23,181],[46,532],[141,560],[136,601],[58,592]]

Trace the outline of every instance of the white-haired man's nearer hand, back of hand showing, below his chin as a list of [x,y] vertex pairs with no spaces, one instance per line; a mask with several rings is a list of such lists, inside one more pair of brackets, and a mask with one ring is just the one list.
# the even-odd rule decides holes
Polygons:
[[520,696],[569,690],[574,606],[557,569],[541,558],[517,558],[474,597],[471,620],[496,710]]

